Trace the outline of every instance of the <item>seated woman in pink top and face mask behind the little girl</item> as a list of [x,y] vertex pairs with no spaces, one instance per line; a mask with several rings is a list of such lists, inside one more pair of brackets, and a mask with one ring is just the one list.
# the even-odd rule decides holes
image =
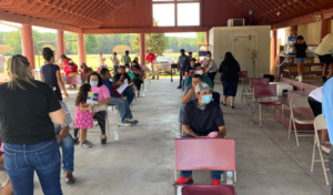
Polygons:
[[98,106],[93,107],[93,111],[94,111],[93,119],[98,120],[98,123],[99,123],[100,129],[102,131],[101,143],[107,144],[107,134],[105,134],[105,115],[107,115],[107,112],[105,111],[108,111],[108,103],[111,100],[110,91],[109,91],[108,86],[105,86],[103,84],[103,80],[102,80],[101,75],[97,72],[92,72],[91,74],[89,74],[89,76],[87,78],[87,82],[90,83],[91,91],[93,93],[99,94]]

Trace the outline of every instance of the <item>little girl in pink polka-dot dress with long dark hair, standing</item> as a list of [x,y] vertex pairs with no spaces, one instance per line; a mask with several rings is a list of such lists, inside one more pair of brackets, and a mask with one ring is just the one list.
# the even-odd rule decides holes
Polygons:
[[87,140],[87,130],[93,127],[93,112],[92,105],[87,105],[88,93],[91,92],[91,85],[84,83],[81,85],[77,100],[77,112],[75,112],[75,129],[80,129],[80,146],[91,147],[92,144]]

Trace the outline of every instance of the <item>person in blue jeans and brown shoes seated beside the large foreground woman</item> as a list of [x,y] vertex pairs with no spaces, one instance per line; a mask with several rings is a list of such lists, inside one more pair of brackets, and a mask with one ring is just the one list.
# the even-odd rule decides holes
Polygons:
[[69,125],[73,122],[68,111],[65,103],[59,101],[61,107],[65,113],[65,122],[62,125],[54,124],[54,132],[59,146],[62,148],[62,170],[64,173],[64,181],[67,184],[75,182],[73,176],[74,172],[74,141],[71,134],[69,134]]

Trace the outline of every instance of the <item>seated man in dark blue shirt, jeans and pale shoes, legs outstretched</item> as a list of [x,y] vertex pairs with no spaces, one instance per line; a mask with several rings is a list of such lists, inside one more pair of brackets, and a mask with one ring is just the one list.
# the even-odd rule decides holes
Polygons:
[[110,81],[110,75],[111,75],[110,71],[108,69],[103,68],[100,72],[100,74],[103,79],[104,85],[108,86],[108,89],[110,91],[111,100],[108,104],[118,106],[118,111],[119,111],[119,115],[120,115],[119,125],[131,126],[131,125],[138,124],[138,121],[133,120],[132,111],[130,109],[128,101],[125,101],[123,99],[114,98],[114,94],[113,94],[113,91],[111,88],[113,83]]

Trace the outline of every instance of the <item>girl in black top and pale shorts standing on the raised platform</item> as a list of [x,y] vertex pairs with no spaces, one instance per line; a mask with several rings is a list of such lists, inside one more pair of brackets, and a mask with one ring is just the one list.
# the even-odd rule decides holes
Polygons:
[[299,75],[296,76],[296,79],[299,79],[300,82],[302,82],[303,79],[303,66],[306,62],[306,50],[307,44],[305,43],[303,35],[299,35],[297,42],[294,44],[294,51],[296,51],[295,63],[297,63],[299,69]]

